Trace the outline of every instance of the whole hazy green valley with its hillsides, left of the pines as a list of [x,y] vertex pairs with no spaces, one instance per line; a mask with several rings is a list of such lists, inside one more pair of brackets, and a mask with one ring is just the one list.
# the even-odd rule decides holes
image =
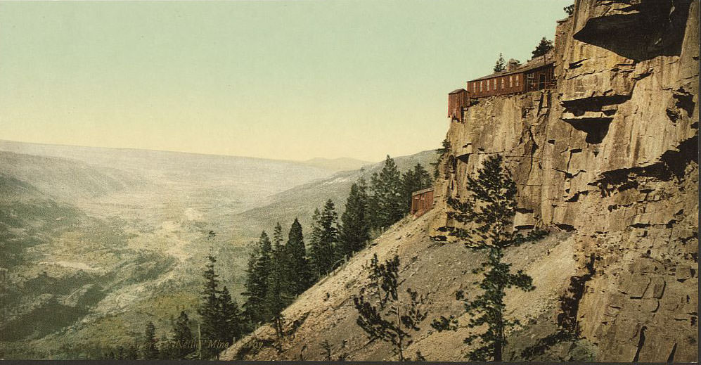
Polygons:
[[0,357],[8,359],[103,357],[141,338],[148,321],[160,337],[180,311],[196,319],[210,254],[241,302],[247,243],[264,224],[240,212],[275,201],[265,210],[291,223],[283,207],[311,212],[319,199],[288,202],[296,195],[285,189],[323,184],[341,201],[352,181],[328,181],[366,175],[157,151],[0,141],[2,149],[13,151],[0,151]]

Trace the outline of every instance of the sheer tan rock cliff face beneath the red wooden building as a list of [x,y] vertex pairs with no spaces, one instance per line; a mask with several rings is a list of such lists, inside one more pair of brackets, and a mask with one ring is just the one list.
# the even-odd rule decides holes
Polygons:
[[501,153],[517,228],[572,232],[586,283],[567,315],[598,361],[697,359],[697,18],[698,1],[577,1],[557,87],[480,99],[447,135],[439,210]]

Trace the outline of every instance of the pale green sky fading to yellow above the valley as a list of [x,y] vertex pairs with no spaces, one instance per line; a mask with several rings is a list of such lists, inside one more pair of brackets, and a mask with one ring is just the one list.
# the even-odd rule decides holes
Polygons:
[[0,139],[382,160],[572,0],[0,1]]

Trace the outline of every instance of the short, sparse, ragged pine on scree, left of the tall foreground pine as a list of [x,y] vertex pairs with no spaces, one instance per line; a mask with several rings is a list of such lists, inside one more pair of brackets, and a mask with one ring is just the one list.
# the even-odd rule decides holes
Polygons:
[[[406,295],[399,295],[399,257],[379,264],[375,254],[370,262],[370,283],[353,297],[353,304],[358,311],[356,323],[365,331],[368,339],[390,342],[392,352],[399,361],[408,360],[404,350],[411,345],[411,333],[420,331],[419,325],[426,318],[423,310],[425,297],[418,295],[411,288]],[[418,354],[418,359],[423,359]]]

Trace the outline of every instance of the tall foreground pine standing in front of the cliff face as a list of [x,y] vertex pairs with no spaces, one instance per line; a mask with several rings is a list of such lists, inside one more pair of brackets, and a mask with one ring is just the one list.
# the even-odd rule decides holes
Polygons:
[[[510,272],[510,264],[503,262],[504,250],[527,242],[534,242],[545,235],[544,231],[534,230],[526,236],[514,231],[513,217],[516,214],[516,184],[511,179],[508,169],[502,166],[501,155],[490,156],[477,172],[477,178],[469,177],[468,195],[465,201],[449,198],[448,204],[453,210],[449,217],[455,222],[465,224],[461,227],[443,227],[450,236],[463,241],[465,247],[486,254],[475,274],[482,273],[482,281],[475,283],[481,289],[474,299],[465,293],[456,295],[463,301],[465,312],[471,314],[469,328],[482,328],[482,333],[472,333],[465,338],[465,343],[476,348],[468,357],[471,361],[502,361],[503,348],[506,345],[506,331],[518,324],[516,320],[505,317],[504,297],[506,289],[517,288],[524,291],[533,290],[532,278],[522,271]],[[456,330],[457,320],[454,316],[433,321],[432,326],[438,331]],[[475,341],[477,340],[477,341]]]

